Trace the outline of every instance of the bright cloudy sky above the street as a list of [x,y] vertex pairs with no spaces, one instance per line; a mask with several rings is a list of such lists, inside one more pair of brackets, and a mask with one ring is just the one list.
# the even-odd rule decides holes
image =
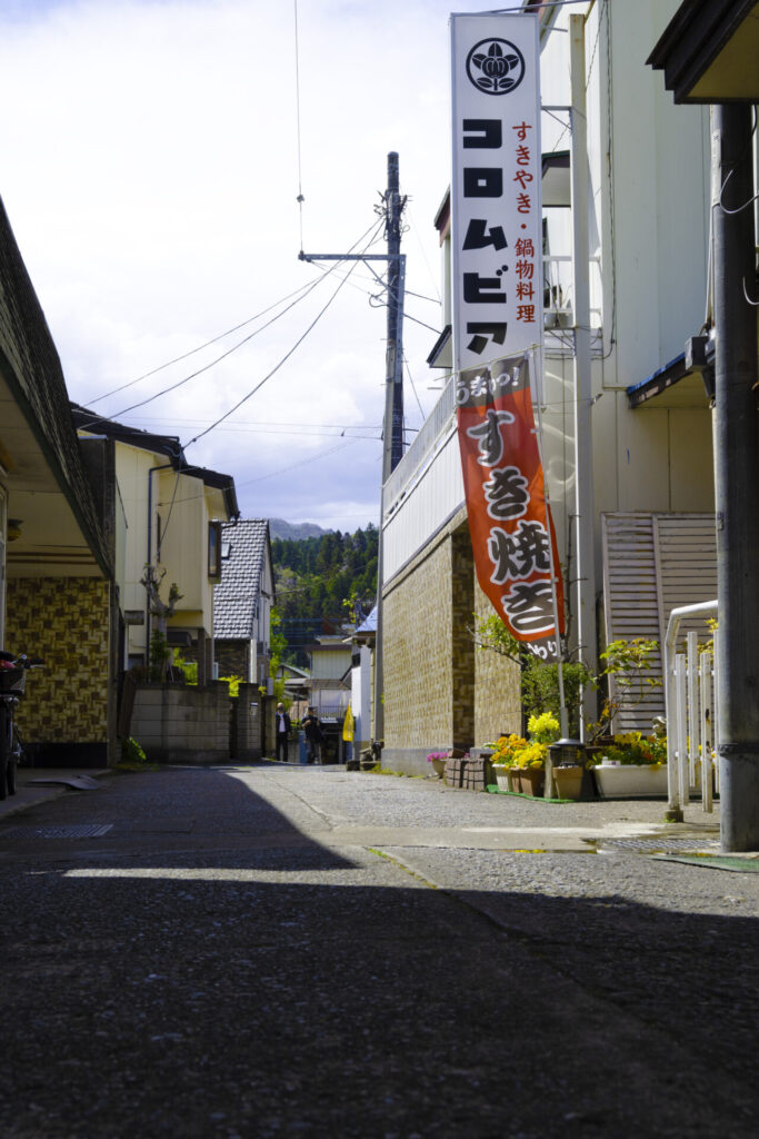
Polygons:
[[409,439],[437,399],[449,10],[297,0],[296,68],[295,0],[0,0],[0,195],[69,395],[179,435],[233,475],[244,517],[377,522],[381,289],[298,251],[302,229],[307,253],[366,247],[389,150],[418,294]]

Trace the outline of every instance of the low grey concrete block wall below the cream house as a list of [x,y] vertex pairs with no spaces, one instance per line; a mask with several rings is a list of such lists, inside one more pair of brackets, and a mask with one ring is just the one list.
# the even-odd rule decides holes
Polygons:
[[154,763],[221,763],[230,757],[229,688],[140,685],[131,735]]

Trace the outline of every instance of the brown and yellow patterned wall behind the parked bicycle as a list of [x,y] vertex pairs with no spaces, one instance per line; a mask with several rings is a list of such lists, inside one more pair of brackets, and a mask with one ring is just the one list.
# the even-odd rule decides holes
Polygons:
[[18,726],[35,767],[97,767],[113,759],[110,625],[107,581],[8,581],[6,645],[44,661],[44,669],[27,673],[18,705]]

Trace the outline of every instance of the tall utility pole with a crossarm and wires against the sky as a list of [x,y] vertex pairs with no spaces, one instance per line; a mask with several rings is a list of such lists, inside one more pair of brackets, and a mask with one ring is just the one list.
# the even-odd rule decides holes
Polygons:
[[[398,155],[387,156],[387,189],[378,212],[385,218],[385,253],[304,253],[300,261],[387,261],[387,350],[385,353],[385,421],[382,426],[382,486],[380,487],[379,550],[377,557],[377,634],[374,641],[374,739],[385,735],[382,704],[382,567],[385,483],[403,458],[403,305],[406,257],[401,253],[401,218],[406,198],[398,191]],[[372,270],[373,271],[373,270]],[[377,274],[374,274],[377,276]]]

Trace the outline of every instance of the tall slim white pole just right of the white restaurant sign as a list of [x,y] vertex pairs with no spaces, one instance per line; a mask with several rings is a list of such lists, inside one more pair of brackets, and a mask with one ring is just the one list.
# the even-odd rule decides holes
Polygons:
[[[575,516],[577,646],[596,671],[595,506],[593,494],[593,412],[591,384],[591,286],[588,276],[587,117],[585,109],[585,17],[569,17],[571,62],[571,198],[575,308]],[[612,236],[613,240],[613,236]],[[583,693],[580,738],[589,716],[591,693]]]

